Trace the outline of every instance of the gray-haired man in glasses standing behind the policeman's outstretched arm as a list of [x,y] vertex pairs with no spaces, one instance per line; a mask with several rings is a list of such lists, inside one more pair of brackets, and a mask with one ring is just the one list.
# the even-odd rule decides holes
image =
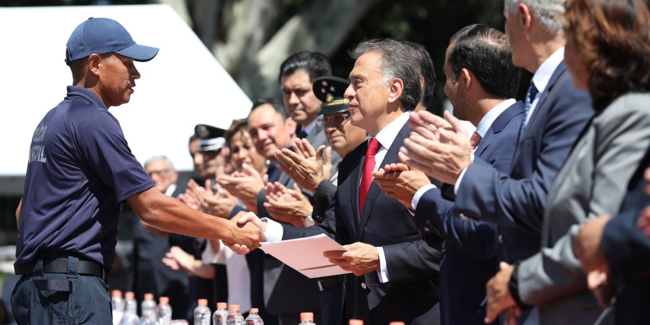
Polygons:
[[[153,187],[165,195],[175,198],[185,192],[178,187],[178,172],[168,157],[155,156],[144,162],[144,172],[153,181]],[[138,299],[145,293],[155,297],[170,296],[174,318],[185,318],[188,310],[188,276],[181,270],[172,270],[162,264],[162,258],[169,252],[169,233],[142,224],[140,218],[133,218],[133,272],[129,287]]]

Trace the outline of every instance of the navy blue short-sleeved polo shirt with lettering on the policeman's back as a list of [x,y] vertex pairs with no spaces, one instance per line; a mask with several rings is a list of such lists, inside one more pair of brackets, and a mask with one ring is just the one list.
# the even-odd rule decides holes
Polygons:
[[110,268],[120,202],[151,187],[101,99],[68,86],[32,136],[15,265],[64,252]]

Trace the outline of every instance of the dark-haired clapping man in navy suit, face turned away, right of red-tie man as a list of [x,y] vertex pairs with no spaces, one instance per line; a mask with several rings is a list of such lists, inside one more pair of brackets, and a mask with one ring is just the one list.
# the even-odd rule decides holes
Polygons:
[[[519,69],[512,65],[506,36],[486,25],[470,25],[452,36],[445,57],[445,93],[454,116],[474,127],[474,155],[509,172],[517,147],[524,105],[515,96]],[[416,220],[445,239],[440,269],[442,324],[484,324],[485,285],[498,270],[497,226],[454,216],[448,185],[404,164],[374,173],[387,196],[415,210]]]

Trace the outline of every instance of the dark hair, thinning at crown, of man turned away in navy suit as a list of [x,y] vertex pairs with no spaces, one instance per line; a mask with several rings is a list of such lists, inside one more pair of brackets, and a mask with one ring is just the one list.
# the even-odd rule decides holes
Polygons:
[[464,27],[451,36],[455,44],[449,51],[448,62],[454,81],[467,68],[488,93],[497,98],[514,98],[519,89],[519,68],[512,64],[512,52],[506,35],[487,25]]

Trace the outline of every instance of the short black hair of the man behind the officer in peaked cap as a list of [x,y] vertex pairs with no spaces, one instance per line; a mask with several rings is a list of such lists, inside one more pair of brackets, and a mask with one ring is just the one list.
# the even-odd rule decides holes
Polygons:
[[309,75],[309,81],[313,82],[319,77],[331,75],[330,60],[323,53],[300,51],[290,55],[280,65],[279,80],[302,70]]

